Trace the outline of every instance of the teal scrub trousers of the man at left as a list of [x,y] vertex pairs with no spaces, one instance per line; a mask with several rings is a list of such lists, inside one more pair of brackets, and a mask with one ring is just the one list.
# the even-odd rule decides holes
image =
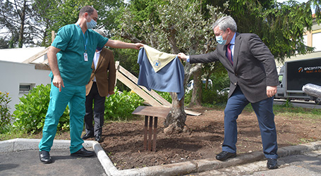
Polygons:
[[83,116],[85,115],[86,88],[85,85],[75,86],[66,82],[63,82],[63,84],[65,87],[61,88],[61,92],[52,84],[49,107],[39,144],[40,151],[51,150],[59,119],[63,115],[63,111],[66,110],[67,104],[70,109],[70,151],[75,153],[83,148],[81,133],[83,132]]

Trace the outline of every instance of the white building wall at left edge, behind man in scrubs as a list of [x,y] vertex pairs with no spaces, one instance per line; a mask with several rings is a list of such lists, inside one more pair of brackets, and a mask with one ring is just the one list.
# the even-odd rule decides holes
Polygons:
[[36,70],[33,64],[0,61],[0,91],[9,93],[11,113],[16,110],[15,104],[20,102],[19,97],[23,96],[19,93],[19,85],[50,84],[49,73],[50,70]]

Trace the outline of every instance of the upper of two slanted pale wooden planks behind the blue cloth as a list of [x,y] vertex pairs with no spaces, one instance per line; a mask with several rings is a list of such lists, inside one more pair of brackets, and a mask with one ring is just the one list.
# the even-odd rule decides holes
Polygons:
[[[128,77],[130,80],[132,80],[133,82],[135,82],[135,84],[138,83],[138,78],[135,77],[135,75],[133,75],[132,73],[128,72],[128,70],[126,70],[125,68],[123,68],[121,65],[119,65],[119,72],[123,73],[123,75],[126,75],[126,77]],[[154,99],[157,99],[157,101],[159,101],[160,103],[162,103],[163,106],[166,107],[171,107],[171,103],[169,103],[169,101],[166,101],[166,99],[164,99],[162,96],[160,96],[159,94],[157,94],[157,92],[155,92],[154,90],[148,90],[146,89],[146,87],[140,86],[137,84],[138,87],[140,87],[141,89],[145,90],[145,92],[147,92],[148,94],[150,94]]]

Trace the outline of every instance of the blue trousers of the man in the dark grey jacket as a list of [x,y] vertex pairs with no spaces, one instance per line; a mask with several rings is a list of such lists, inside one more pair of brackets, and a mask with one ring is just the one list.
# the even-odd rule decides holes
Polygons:
[[[250,103],[240,87],[231,95],[224,110],[224,142],[222,151],[236,153],[238,115]],[[257,115],[266,158],[277,158],[277,130],[274,123],[273,97],[251,103]]]

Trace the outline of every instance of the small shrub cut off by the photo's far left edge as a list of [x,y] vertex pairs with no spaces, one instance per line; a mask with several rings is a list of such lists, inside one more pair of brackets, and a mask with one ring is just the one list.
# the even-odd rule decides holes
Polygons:
[[0,92],[0,133],[7,130],[8,125],[11,125],[10,103],[11,97],[9,93]]

